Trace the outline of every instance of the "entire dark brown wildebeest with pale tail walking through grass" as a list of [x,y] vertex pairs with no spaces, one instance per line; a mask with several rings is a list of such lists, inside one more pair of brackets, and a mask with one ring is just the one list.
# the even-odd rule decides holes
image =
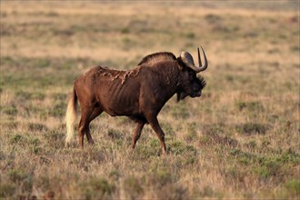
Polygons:
[[188,95],[201,95],[205,80],[196,74],[207,68],[205,52],[201,49],[204,65],[198,48],[199,66],[195,66],[188,52],[181,53],[177,58],[172,53],[161,52],[145,56],[134,69],[128,71],[95,66],[79,76],[66,109],[65,144],[69,144],[74,132],[78,100],[81,107],[79,146],[84,146],[84,135],[89,143],[94,143],[89,124],[105,111],[112,116],[126,115],[135,121],[132,148],[135,148],[144,125],[150,124],[161,142],[163,153],[166,153],[165,134],[157,115],[175,94],[178,101]]

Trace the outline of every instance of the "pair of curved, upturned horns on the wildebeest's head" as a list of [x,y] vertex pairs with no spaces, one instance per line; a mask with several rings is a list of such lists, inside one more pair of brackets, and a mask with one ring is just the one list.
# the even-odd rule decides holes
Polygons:
[[198,63],[199,63],[199,66],[195,66],[193,57],[188,52],[183,52],[180,55],[182,60],[184,61],[185,65],[187,65],[189,68],[193,69],[195,71],[195,73],[205,71],[205,69],[208,66],[205,51],[203,50],[202,46],[200,46],[200,47],[201,47],[201,50],[202,50],[203,55],[205,57],[205,65],[202,65],[199,47],[198,47]]

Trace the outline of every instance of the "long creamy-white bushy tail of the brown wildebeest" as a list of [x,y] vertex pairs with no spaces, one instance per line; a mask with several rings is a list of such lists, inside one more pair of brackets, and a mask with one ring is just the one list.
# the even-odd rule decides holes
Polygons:
[[72,136],[74,134],[74,126],[77,119],[77,95],[75,88],[73,88],[73,93],[66,107],[65,112],[65,125],[66,125],[66,135],[65,135],[65,146],[70,144]]

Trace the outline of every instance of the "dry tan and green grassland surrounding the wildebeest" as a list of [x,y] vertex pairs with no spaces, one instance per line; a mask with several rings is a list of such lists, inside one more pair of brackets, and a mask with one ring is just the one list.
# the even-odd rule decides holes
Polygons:
[[[300,198],[299,1],[1,1],[0,198]],[[200,99],[145,126],[100,115],[95,145],[64,147],[75,77],[93,65],[203,45]]]

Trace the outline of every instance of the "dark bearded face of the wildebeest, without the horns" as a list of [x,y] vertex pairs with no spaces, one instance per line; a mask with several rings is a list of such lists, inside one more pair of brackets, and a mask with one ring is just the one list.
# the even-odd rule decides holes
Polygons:
[[188,69],[182,72],[181,83],[177,91],[177,100],[182,100],[188,95],[191,97],[201,96],[202,89],[205,85],[205,79],[201,75],[197,77],[195,71]]

